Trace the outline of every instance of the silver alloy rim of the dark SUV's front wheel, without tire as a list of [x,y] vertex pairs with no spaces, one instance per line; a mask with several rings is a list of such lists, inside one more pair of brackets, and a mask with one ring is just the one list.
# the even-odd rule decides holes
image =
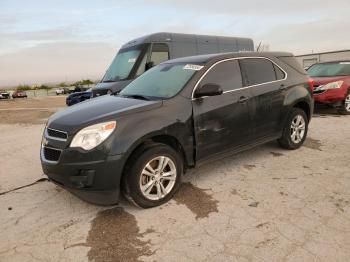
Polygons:
[[174,188],[176,177],[173,160],[166,156],[153,158],[141,171],[141,192],[149,200],[160,200]]

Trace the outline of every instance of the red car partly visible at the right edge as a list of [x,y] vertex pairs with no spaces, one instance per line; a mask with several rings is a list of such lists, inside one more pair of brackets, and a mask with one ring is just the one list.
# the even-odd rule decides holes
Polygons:
[[314,80],[315,103],[350,114],[350,61],[334,61],[314,64],[308,69]]

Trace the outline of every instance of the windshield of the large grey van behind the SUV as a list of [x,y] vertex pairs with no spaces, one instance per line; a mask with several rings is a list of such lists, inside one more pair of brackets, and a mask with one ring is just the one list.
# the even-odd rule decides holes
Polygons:
[[140,57],[144,56],[146,45],[138,45],[130,48],[121,49],[112,64],[109,66],[102,82],[116,82],[126,80],[131,70],[139,62]]

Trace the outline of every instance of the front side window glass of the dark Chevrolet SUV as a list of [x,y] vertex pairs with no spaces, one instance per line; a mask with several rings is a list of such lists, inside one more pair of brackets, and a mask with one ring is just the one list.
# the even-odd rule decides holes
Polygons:
[[201,86],[205,84],[218,84],[224,92],[241,88],[242,76],[237,60],[214,66],[201,81]]

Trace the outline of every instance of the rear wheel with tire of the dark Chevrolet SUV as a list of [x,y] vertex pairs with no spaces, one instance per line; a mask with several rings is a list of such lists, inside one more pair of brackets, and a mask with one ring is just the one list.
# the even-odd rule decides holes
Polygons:
[[308,125],[306,113],[300,108],[293,108],[288,114],[282,137],[277,140],[279,145],[288,150],[301,147],[307,136]]

